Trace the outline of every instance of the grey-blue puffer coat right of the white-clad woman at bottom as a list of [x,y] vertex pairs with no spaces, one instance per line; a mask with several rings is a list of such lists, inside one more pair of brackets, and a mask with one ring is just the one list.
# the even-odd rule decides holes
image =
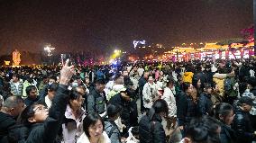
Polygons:
[[110,120],[106,119],[105,132],[108,135],[111,142],[121,143],[121,134],[120,134],[120,131],[118,130],[118,127],[114,121],[110,121]]

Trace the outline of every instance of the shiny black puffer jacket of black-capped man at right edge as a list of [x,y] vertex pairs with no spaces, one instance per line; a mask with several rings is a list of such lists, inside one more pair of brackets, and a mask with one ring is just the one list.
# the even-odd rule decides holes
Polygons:
[[249,119],[249,113],[243,112],[239,106],[235,106],[235,116],[233,119],[233,130],[237,137],[237,143],[251,143],[255,140],[255,135],[251,127],[251,121]]

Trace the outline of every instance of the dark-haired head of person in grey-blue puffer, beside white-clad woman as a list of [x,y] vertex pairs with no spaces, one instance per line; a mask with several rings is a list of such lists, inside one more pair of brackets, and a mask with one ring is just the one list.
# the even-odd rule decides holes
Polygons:
[[108,104],[106,108],[106,114],[110,119],[113,119],[115,121],[122,111],[122,107],[118,104]]

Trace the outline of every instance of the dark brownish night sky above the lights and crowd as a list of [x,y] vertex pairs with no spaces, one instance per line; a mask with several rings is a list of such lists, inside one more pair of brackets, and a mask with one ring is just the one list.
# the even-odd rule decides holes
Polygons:
[[210,42],[241,37],[253,23],[252,0],[0,0],[0,54],[115,48],[133,40]]

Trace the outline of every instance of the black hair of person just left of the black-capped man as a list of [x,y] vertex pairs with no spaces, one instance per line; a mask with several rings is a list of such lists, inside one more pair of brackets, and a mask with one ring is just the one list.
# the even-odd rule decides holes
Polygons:
[[217,103],[215,105],[215,119],[221,121],[220,115],[224,116],[224,118],[233,111],[233,106],[229,103]]

